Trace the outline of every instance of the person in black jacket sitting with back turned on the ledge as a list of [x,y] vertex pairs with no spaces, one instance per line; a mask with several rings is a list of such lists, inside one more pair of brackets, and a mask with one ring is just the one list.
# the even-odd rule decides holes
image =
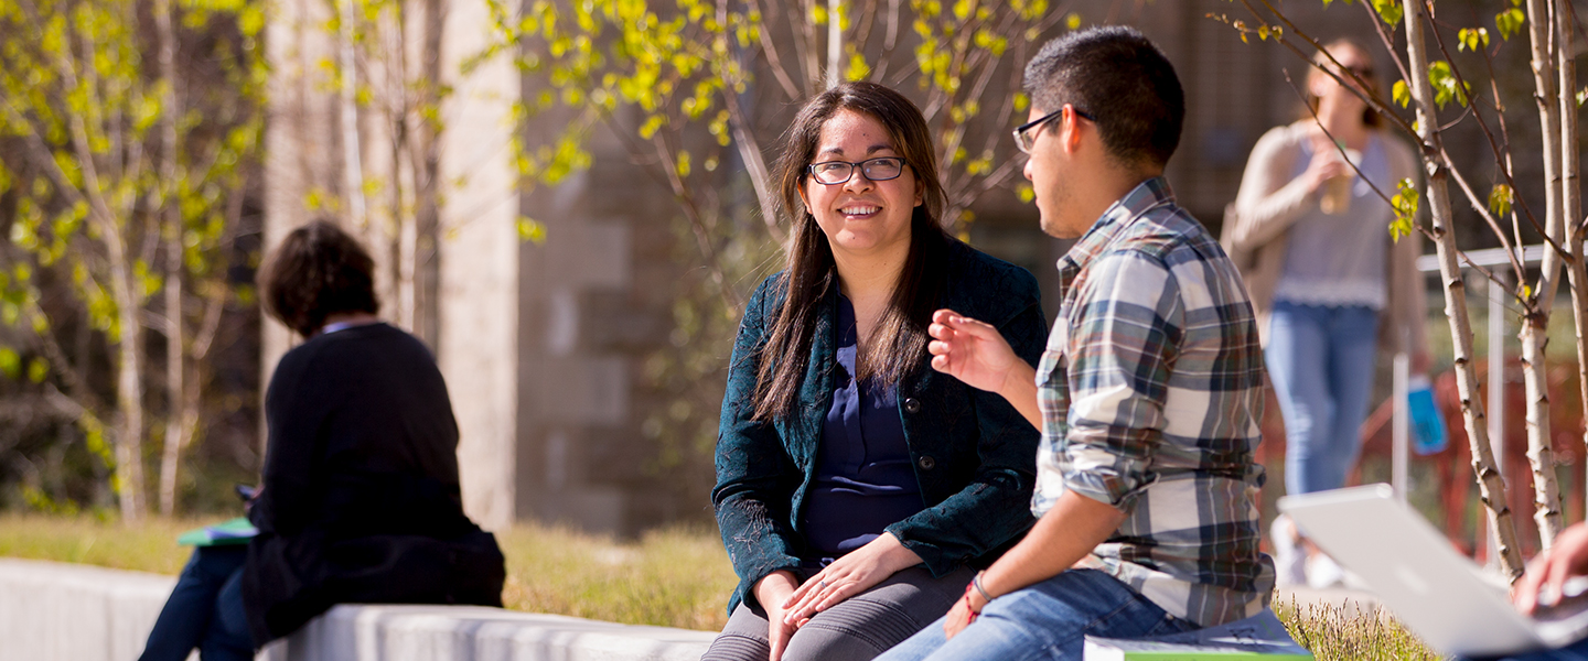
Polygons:
[[259,536],[194,552],[145,661],[252,659],[340,602],[502,606],[502,552],[464,515],[446,384],[424,344],[375,317],[373,271],[324,220],[260,268],[265,311],[305,342],[265,395]]

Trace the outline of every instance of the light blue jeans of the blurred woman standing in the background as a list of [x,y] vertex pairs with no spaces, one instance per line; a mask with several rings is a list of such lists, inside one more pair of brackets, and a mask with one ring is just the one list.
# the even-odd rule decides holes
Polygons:
[[1264,357],[1285,415],[1285,493],[1345,487],[1374,390],[1378,312],[1275,301]]

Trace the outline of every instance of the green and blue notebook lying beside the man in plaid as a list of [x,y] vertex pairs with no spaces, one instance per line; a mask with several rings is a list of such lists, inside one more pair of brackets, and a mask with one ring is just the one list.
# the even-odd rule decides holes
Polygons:
[[1285,625],[1264,610],[1221,626],[1150,639],[1086,637],[1086,661],[1312,661]]

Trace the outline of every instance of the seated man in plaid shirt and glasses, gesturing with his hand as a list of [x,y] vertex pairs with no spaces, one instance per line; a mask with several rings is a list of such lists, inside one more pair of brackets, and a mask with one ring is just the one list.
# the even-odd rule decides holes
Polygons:
[[1174,67],[1135,30],[1081,30],[1043,46],[1026,92],[1015,139],[1042,228],[1080,238],[1042,363],[953,311],[929,331],[934,368],[1042,428],[1039,522],[889,661],[1080,659],[1085,636],[1223,625],[1274,588],[1262,352],[1234,265],[1162,179],[1185,116]]

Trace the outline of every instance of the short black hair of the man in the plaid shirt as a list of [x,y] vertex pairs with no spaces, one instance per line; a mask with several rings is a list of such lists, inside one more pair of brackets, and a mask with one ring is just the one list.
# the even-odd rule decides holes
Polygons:
[[1123,166],[1164,166],[1180,144],[1186,116],[1180,78],[1132,27],[1091,27],[1048,41],[1026,65],[1024,87],[1043,113],[1070,103],[1097,117],[1108,155]]

